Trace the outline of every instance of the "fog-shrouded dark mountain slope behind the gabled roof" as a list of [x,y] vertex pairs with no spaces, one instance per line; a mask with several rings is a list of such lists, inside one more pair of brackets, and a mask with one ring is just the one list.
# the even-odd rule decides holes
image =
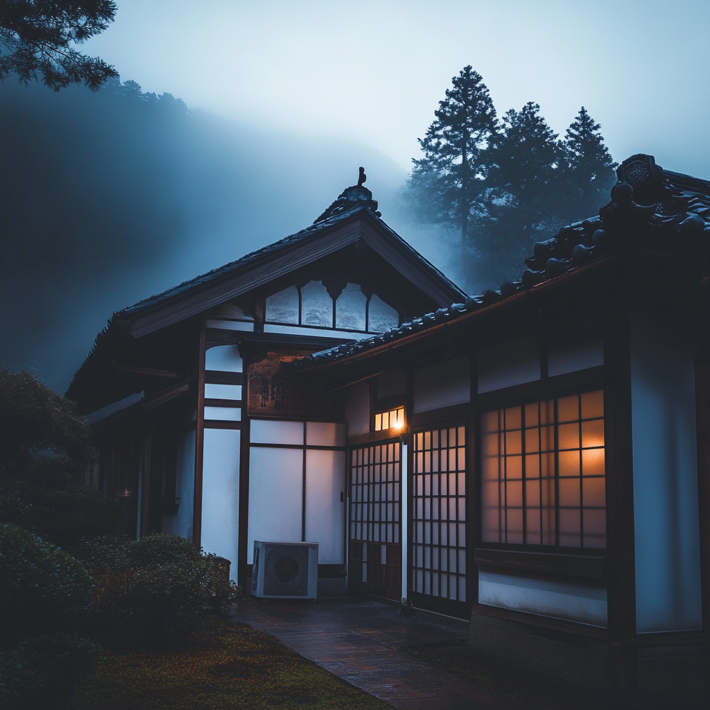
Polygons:
[[311,224],[359,165],[397,214],[404,171],[371,148],[136,87],[0,84],[0,365],[57,391],[114,310]]

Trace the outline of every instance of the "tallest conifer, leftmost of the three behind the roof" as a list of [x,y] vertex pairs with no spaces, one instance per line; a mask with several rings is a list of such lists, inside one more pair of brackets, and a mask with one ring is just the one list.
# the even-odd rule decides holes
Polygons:
[[408,183],[419,216],[461,229],[469,238],[471,217],[485,212],[487,151],[496,132],[496,109],[478,72],[464,67],[439,102],[436,120],[419,143],[425,157],[413,160]]

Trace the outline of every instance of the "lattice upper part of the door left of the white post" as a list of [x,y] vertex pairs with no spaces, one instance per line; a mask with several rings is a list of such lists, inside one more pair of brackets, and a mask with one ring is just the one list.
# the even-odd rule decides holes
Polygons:
[[353,449],[350,538],[400,541],[400,444]]

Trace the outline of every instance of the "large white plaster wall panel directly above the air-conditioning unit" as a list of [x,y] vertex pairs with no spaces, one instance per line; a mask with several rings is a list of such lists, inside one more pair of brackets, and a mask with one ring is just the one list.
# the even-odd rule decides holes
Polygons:
[[252,562],[254,540],[301,541],[302,506],[302,449],[251,447],[248,564]]

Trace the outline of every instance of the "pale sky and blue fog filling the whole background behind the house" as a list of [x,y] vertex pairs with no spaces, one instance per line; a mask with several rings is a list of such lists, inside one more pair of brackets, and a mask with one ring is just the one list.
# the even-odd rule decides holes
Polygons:
[[[710,4],[118,0],[84,45],[126,89],[0,84],[0,366],[64,391],[114,310],[312,223],[358,166],[383,219],[470,293],[454,239],[398,200],[452,76],[616,160],[710,178]],[[493,285],[493,284],[490,284]]]

